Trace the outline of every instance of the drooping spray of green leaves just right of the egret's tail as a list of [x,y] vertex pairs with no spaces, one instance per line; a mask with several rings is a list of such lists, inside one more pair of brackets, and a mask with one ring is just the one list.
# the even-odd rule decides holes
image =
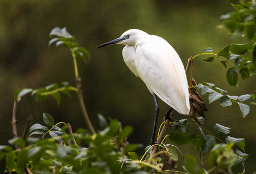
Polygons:
[[[209,104],[212,103],[215,100],[219,99],[219,103],[221,106],[233,106],[234,103],[237,103],[239,105],[240,110],[242,111],[243,117],[245,117],[249,111],[250,107],[247,104],[253,104],[256,105],[254,102],[247,102],[248,99],[252,98],[255,99],[254,94],[245,94],[240,96],[235,95],[225,95],[228,92],[220,89],[218,87],[215,87],[212,83],[202,83],[198,84],[196,86],[196,90],[201,89],[201,94],[204,95],[205,93],[209,94]],[[238,100],[238,101],[237,101]]]

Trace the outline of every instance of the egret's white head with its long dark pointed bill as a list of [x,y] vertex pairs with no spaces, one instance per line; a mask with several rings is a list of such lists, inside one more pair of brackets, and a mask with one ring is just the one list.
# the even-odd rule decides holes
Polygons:
[[149,35],[139,29],[129,29],[124,32],[120,38],[111,40],[105,44],[102,44],[96,48],[105,47],[112,44],[123,44],[123,45],[135,45],[141,38],[144,38],[146,35]]

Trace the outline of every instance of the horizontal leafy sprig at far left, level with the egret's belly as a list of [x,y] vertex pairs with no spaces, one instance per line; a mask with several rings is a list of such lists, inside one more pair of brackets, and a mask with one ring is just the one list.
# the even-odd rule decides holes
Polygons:
[[32,96],[35,95],[36,101],[38,100],[45,100],[48,95],[53,96],[55,100],[57,101],[57,104],[59,105],[61,103],[61,93],[66,94],[69,98],[71,98],[70,91],[77,91],[77,89],[73,86],[68,86],[68,82],[62,81],[61,87],[59,88],[57,83],[53,83],[51,85],[48,85],[46,87],[40,88],[40,89],[27,89],[23,88],[20,90],[17,90],[14,94],[14,100],[18,101],[22,96],[31,93]]

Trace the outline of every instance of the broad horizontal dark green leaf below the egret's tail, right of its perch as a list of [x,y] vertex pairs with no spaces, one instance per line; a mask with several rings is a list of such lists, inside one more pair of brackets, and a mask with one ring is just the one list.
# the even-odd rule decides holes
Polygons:
[[172,142],[178,145],[188,144],[191,140],[195,139],[195,134],[183,135],[180,132],[171,132],[169,138]]

